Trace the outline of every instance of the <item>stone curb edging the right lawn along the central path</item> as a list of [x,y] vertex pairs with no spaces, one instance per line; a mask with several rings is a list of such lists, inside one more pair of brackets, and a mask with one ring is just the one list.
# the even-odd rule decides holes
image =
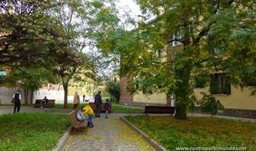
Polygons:
[[123,118],[123,116],[120,117],[120,119],[128,124],[130,128],[132,128],[136,133],[140,134],[155,150],[157,151],[165,151],[166,149],[162,146],[160,146],[158,143],[156,143],[154,140],[150,139],[145,133],[143,133],[141,130],[139,130],[137,127],[135,127],[132,123],[129,123],[128,120]]

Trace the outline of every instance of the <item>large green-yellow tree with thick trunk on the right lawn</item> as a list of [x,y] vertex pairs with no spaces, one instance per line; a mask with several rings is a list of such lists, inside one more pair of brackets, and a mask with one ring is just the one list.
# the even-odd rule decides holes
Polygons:
[[108,35],[107,46],[120,54],[121,73],[140,83],[133,90],[148,87],[165,92],[167,98],[175,94],[175,118],[187,118],[194,106],[196,78],[209,85],[211,74],[221,72],[239,86],[245,77],[254,80],[256,12],[252,0],[137,3],[144,13],[155,15],[154,21],[131,32]]

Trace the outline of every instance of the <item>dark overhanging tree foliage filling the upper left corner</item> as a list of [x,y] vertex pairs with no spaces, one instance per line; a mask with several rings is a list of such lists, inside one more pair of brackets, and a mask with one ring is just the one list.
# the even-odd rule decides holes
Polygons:
[[28,67],[52,57],[49,48],[57,37],[58,26],[53,26],[54,19],[46,14],[52,3],[1,1],[1,65],[18,67],[22,63]]

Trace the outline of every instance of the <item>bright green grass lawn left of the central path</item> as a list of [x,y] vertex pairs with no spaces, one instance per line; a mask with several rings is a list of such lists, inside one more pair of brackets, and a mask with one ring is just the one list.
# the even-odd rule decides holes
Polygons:
[[69,126],[66,114],[0,115],[0,150],[52,150]]

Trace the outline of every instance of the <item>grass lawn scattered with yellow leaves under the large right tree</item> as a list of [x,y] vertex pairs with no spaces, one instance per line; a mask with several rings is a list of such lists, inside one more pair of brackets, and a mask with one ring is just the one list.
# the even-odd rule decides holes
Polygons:
[[127,116],[134,126],[168,150],[179,147],[246,147],[256,150],[256,123],[224,118]]

